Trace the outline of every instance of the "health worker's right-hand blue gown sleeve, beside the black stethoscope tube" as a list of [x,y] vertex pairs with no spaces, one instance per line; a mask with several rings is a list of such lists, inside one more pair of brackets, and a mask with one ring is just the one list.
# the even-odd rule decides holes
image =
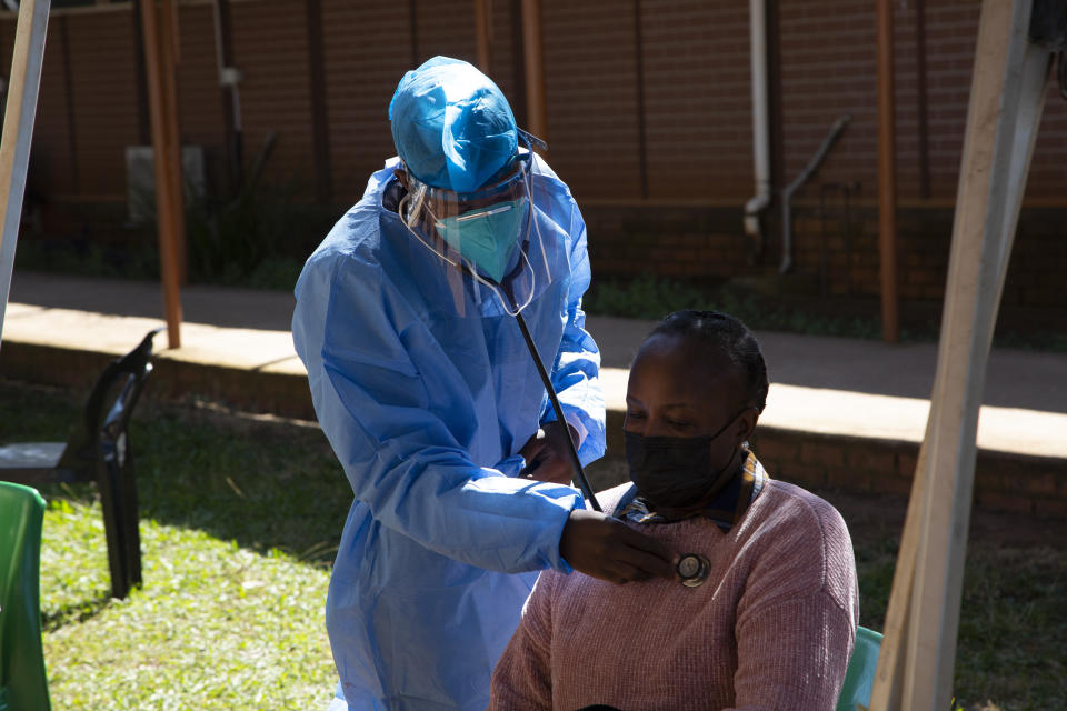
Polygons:
[[[581,298],[589,288],[591,273],[586,246],[586,223],[578,206],[570,200],[570,284],[567,292],[567,323],[551,372],[564,417],[585,434],[578,458],[582,465],[604,457],[605,405],[600,390],[600,350],[586,331]],[[551,404],[542,422],[556,420]]]

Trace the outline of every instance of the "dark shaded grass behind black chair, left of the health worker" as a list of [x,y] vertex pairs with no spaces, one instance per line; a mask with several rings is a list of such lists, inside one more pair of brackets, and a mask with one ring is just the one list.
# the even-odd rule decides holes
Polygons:
[[[63,391],[0,381],[0,443],[63,440],[80,409]],[[332,562],[352,494],[319,428],[142,401],[130,441],[141,519]],[[42,493],[98,497],[91,484]]]

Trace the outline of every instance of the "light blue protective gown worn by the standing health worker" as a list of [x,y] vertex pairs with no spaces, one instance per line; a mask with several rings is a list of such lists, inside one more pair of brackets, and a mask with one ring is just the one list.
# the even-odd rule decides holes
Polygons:
[[[350,709],[483,709],[492,667],[538,570],[559,554],[570,487],[515,475],[555,419],[513,317],[382,207],[396,162],[330,231],[297,283],[292,321],[316,413],[355,492],[327,629]],[[582,463],[604,453],[599,352],[585,331],[585,223],[542,162],[535,216],[546,260],[522,312],[551,369]],[[550,274],[551,280],[546,278]]]

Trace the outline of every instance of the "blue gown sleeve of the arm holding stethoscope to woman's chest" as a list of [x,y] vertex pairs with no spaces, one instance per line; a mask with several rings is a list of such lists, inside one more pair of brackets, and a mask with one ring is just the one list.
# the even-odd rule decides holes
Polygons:
[[[293,342],[319,423],[373,518],[465,563],[555,568],[580,494],[478,467],[428,407],[379,270],[350,256],[312,257],[297,284]],[[416,329],[412,327],[412,331]]]

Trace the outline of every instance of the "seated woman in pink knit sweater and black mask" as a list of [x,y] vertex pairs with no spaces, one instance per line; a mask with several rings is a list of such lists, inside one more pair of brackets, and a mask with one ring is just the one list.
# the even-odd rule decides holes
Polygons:
[[767,388],[730,316],[679,311],[652,331],[627,389],[632,484],[598,499],[670,545],[679,580],[542,572],[490,709],[832,711],[859,617],[851,540],[748,449]]

